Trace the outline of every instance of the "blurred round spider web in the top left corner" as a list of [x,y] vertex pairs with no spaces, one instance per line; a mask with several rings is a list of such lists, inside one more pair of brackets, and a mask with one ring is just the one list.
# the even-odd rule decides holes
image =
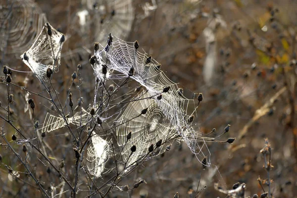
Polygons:
[[46,16],[32,0],[2,0],[0,51],[21,54],[36,40]]

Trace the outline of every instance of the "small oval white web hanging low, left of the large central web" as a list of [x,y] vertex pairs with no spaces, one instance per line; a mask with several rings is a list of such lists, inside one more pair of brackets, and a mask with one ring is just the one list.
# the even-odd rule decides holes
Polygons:
[[92,175],[96,178],[101,176],[104,164],[108,159],[109,145],[99,135],[93,132],[92,144],[89,145],[86,157],[86,165]]

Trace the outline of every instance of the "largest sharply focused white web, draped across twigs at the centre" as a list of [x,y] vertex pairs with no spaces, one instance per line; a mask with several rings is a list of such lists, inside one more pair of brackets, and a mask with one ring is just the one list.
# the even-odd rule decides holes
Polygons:
[[[196,114],[195,95],[193,99],[184,97],[178,85],[160,70],[161,65],[148,54],[138,50],[137,42],[125,42],[118,38],[112,40],[113,42],[107,44],[103,52],[96,54],[98,59],[105,61],[102,64],[125,75],[111,74],[110,78],[120,79],[130,76],[145,88],[145,92],[138,96],[138,100],[131,102],[118,118],[118,124],[126,121],[116,129],[118,145],[124,147],[126,136],[130,131],[133,140],[127,144],[139,145],[132,159],[129,158],[131,147],[127,145],[124,147],[123,157],[126,160],[129,158],[127,164],[132,164],[133,160],[146,155],[151,144],[155,144],[160,139],[164,142],[167,140],[166,136],[170,137],[171,134],[179,135],[196,154],[198,160],[204,156],[210,157],[205,144],[209,139],[201,137],[201,134],[193,129],[193,123],[189,122],[190,116]],[[108,61],[102,58],[102,54]],[[169,91],[164,92],[164,88],[169,88]],[[162,99],[157,99],[160,95]],[[148,108],[147,114],[132,119],[144,108]],[[127,122],[128,120],[131,121]],[[199,144],[201,142],[202,144]],[[208,163],[210,163],[209,160]]]

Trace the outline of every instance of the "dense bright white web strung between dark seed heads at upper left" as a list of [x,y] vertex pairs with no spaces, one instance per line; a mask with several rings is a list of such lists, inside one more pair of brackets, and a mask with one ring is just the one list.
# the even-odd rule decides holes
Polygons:
[[21,58],[40,81],[47,81],[48,68],[58,69],[65,36],[46,23],[36,41]]

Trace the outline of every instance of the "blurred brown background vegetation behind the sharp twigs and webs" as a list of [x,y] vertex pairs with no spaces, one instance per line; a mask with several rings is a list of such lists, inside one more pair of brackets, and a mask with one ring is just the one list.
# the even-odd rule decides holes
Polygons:
[[[246,183],[246,197],[263,193],[257,178],[265,179],[267,173],[259,151],[268,138],[274,166],[272,194],[295,198],[296,8],[294,0],[0,0],[0,64],[29,71],[20,54],[49,22],[66,38],[56,79],[60,96],[66,99],[70,75],[81,64],[84,91],[91,98],[88,75],[93,72],[89,58],[94,42],[104,46],[108,33],[124,41],[137,40],[172,81],[203,93],[197,118],[202,134],[216,128],[215,137],[230,124],[221,140],[237,138],[232,145],[208,144],[212,166],[203,172],[200,188],[207,188],[199,197],[225,197],[214,190],[216,182],[224,189]],[[26,80],[32,76],[13,72],[20,86],[39,89],[34,84],[37,79]],[[0,99],[7,100],[4,91]],[[25,105],[21,99],[18,102]],[[38,116],[44,119],[45,112],[40,109]],[[12,184],[4,179],[3,160],[12,163],[11,156],[5,155],[4,146],[0,153],[0,183],[5,184],[1,195],[17,197],[5,189]],[[164,156],[146,162],[121,182],[133,185],[141,178],[147,184],[128,192],[114,191],[109,197],[173,198],[176,192],[181,198],[193,197],[200,170],[187,145],[174,144]]]

